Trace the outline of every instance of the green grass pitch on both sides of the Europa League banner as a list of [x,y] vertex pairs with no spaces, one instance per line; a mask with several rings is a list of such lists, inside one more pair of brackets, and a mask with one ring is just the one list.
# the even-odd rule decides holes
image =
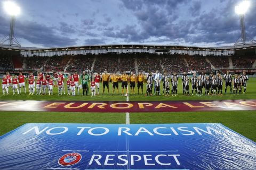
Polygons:
[[[185,102],[186,101],[219,101],[219,100],[239,100],[239,101],[249,101],[256,99],[255,85],[256,79],[250,78],[247,83],[246,94],[234,95],[224,94],[222,96],[185,96],[182,95],[181,80],[179,80],[178,86],[178,96],[145,96],[145,95],[128,95],[127,97],[121,96],[120,94],[112,95],[111,93],[111,83],[110,83],[110,95],[106,94],[102,96],[102,87],[100,87],[100,95],[91,97],[89,96],[58,96],[57,88],[54,88],[53,96],[48,95],[28,95],[24,94],[22,89],[21,95],[1,95],[0,100],[23,100],[26,105],[29,105],[28,100],[44,100],[48,102],[55,101],[79,101],[84,102],[96,102],[96,101],[114,101],[114,102],[134,102],[134,101],[148,101],[161,103],[161,101],[175,101],[175,102]],[[146,84],[144,84],[145,86]],[[120,87],[120,86],[119,86]],[[162,89],[162,87],[161,87]],[[145,93],[146,87],[144,87]],[[229,91],[229,89],[228,89]],[[129,92],[130,93],[130,92]],[[81,92],[80,92],[81,94]],[[137,94],[137,89],[135,89],[135,94]],[[188,102],[189,103],[189,102]],[[20,105],[20,108],[26,105]],[[8,106],[6,106],[8,107]],[[10,106],[11,107],[11,106]],[[252,106],[253,107],[253,106]],[[25,108],[26,109],[26,108]],[[192,109],[192,108],[191,108]],[[25,123],[119,123],[119,124],[138,124],[138,123],[222,123],[228,128],[245,135],[245,137],[256,141],[255,134],[255,121],[256,121],[256,111],[237,111],[239,109],[235,108],[233,111],[194,111],[192,112],[122,112],[121,113],[102,113],[102,112],[61,112],[55,110],[54,112],[36,112],[36,111],[1,111],[0,112],[0,135],[7,133]],[[246,110],[246,109],[245,109]]]

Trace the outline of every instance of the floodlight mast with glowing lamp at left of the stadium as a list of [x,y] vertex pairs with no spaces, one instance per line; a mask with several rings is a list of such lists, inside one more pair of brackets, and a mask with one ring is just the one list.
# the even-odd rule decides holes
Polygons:
[[10,32],[9,38],[7,36],[0,41],[0,44],[4,44],[6,41],[9,41],[9,45],[18,45],[20,46],[18,40],[14,37],[14,26],[15,26],[15,16],[20,14],[20,7],[12,1],[5,1],[3,2],[4,10],[7,14],[11,16],[11,23],[10,23]]

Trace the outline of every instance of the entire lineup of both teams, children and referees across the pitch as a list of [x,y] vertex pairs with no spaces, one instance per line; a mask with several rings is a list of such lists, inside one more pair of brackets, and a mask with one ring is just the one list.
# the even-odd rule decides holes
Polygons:
[[[103,86],[103,93],[105,95],[105,89],[107,88],[108,94],[110,94],[109,84],[113,86],[112,95],[119,94],[119,81],[121,80],[122,91],[121,94],[127,96],[129,94],[127,87],[130,86],[130,94],[135,95],[135,88],[138,88],[138,95],[141,93],[143,95],[143,84],[146,81],[146,96],[161,95],[161,83],[162,83],[162,95],[165,96],[176,96],[178,95],[178,80],[179,76],[174,72],[173,74],[160,74],[156,71],[155,74],[152,72],[147,74],[146,77],[141,72],[138,75],[135,75],[131,72],[130,75],[127,75],[125,72],[123,74],[108,74],[105,71],[102,75],[100,73],[96,75],[90,75],[87,72],[83,71],[81,75],[75,72],[74,74],[68,74],[67,80],[62,72],[53,72],[53,74],[38,72],[37,78],[30,73],[28,75],[28,80],[22,72],[19,72],[19,75],[14,75],[13,77],[9,72],[6,72],[6,75],[2,79],[2,89],[3,95],[9,94],[9,88],[11,87],[13,95],[21,94],[23,92],[26,94],[27,89],[25,83],[28,82],[29,95],[53,95],[53,88],[58,88],[58,95],[80,95],[80,89],[82,89],[82,95],[89,95],[91,91],[91,96],[99,95],[100,91],[100,82]],[[182,77],[182,91],[183,95],[190,95],[189,87],[191,87],[191,95],[222,95],[222,88],[224,86],[223,80],[225,80],[225,94],[227,89],[230,89],[230,93],[233,94],[245,94],[247,81],[249,80],[246,72],[242,74],[234,74],[233,76],[229,71],[225,75],[217,73],[214,75],[211,73],[209,76],[205,75],[202,72],[199,76],[196,76],[196,73],[193,74],[191,78],[188,77],[187,73],[183,73]],[[90,87],[90,91],[89,91]],[[153,94],[154,89],[154,94]],[[116,90],[116,91],[115,91]],[[232,91],[233,90],[233,91]],[[47,92],[46,92],[47,91]]]

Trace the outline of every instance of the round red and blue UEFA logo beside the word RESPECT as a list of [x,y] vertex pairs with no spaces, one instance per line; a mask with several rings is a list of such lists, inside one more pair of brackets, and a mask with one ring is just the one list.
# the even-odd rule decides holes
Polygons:
[[78,153],[65,154],[59,159],[59,165],[70,166],[80,162],[82,155]]

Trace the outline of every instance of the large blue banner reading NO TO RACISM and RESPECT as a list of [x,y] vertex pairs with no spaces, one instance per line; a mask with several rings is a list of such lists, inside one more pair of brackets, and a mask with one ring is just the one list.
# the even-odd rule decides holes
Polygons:
[[25,124],[0,169],[256,169],[256,143],[222,124]]

